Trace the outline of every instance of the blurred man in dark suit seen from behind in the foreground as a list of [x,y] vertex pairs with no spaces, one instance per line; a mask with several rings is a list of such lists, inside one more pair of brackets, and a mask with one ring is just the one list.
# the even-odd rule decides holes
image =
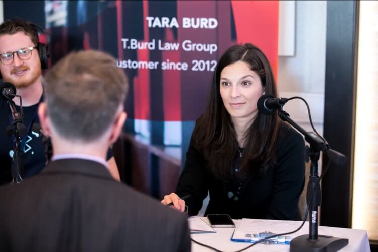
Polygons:
[[186,217],[116,182],[105,161],[126,113],[127,78],[99,51],[70,53],[42,80],[54,154],[0,187],[0,251],[189,251]]

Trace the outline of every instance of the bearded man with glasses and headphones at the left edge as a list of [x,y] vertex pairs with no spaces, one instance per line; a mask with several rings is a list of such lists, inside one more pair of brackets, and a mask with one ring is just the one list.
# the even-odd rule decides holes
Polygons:
[[[46,45],[39,43],[36,26],[23,20],[11,19],[0,25],[0,74],[3,82],[15,85],[17,95],[22,97],[24,125],[27,136],[21,140],[24,151],[23,178],[38,174],[45,166],[45,149],[39,133],[32,130],[33,123],[39,123],[38,106],[43,100],[41,83],[42,68],[48,65]],[[13,99],[19,111],[18,98]],[[13,137],[6,129],[12,123],[12,116],[5,99],[0,99],[0,185],[11,181]],[[107,156],[109,172],[119,181],[119,173],[111,154]]]

